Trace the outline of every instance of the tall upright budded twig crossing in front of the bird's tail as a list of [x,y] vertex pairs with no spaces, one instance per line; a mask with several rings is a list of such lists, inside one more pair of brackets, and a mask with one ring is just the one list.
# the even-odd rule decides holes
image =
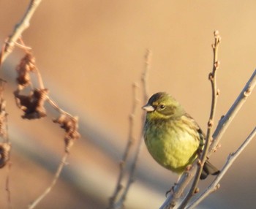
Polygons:
[[211,144],[211,132],[212,132],[212,127],[214,123],[214,115],[216,112],[216,104],[217,104],[217,83],[216,83],[216,72],[217,69],[219,68],[219,60],[218,60],[218,48],[219,48],[219,42],[220,42],[220,37],[219,37],[219,31],[214,31],[214,44],[212,45],[213,51],[214,51],[214,63],[213,63],[213,68],[212,72],[209,75],[209,80],[211,81],[211,113],[210,117],[208,120],[208,128],[207,128],[207,134],[206,134],[206,142],[203,148],[203,153],[200,156],[200,163],[199,166],[197,166],[197,172],[195,173],[195,178],[192,182],[192,186],[189,189],[189,192],[187,193],[187,196],[182,200],[181,205],[178,207],[179,209],[185,208],[187,203],[189,202],[189,199],[195,194],[195,189],[197,188],[197,184],[199,182],[200,175],[203,170],[203,164],[206,161],[207,153],[208,153],[208,148]]

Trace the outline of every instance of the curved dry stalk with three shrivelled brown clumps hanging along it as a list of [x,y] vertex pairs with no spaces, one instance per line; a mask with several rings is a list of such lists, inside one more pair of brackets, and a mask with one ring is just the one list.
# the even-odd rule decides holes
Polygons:
[[[48,186],[45,191],[37,197],[30,205],[29,209],[34,208],[55,186],[56,181],[59,178],[61,170],[63,169],[64,165],[67,161],[67,156],[69,155],[69,151],[72,148],[73,143],[80,137],[78,132],[78,117],[74,117],[69,113],[62,110],[56,102],[54,102],[48,96],[48,89],[44,88],[44,84],[42,82],[42,77],[39,73],[39,69],[35,64],[35,58],[31,53],[31,50],[27,50],[28,47],[23,45],[23,49],[25,49],[25,56],[21,59],[20,64],[18,65],[16,71],[18,73],[17,77],[17,90],[14,92],[15,100],[17,106],[20,110],[23,110],[24,115],[22,118],[24,119],[38,119],[46,116],[45,110],[45,102],[48,102],[54,110],[59,112],[59,118],[53,119],[54,123],[59,123],[61,128],[65,130],[64,135],[64,144],[65,144],[65,152],[64,156],[61,159],[58,169],[53,177],[50,186]],[[31,73],[37,72],[37,86],[39,88],[33,88],[33,83],[31,81]],[[28,91],[29,94],[23,94],[23,91]]]

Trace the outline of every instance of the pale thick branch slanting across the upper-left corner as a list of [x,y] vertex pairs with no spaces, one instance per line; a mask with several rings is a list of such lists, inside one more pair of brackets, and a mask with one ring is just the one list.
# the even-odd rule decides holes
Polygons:
[[15,43],[17,40],[21,37],[21,34],[23,31],[26,30],[26,28],[29,28],[30,20],[32,16],[34,15],[35,10],[39,6],[41,0],[31,0],[29,3],[29,7],[27,8],[25,14],[23,15],[23,18],[20,20],[20,23],[17,23],[14,30],[12,31],[12,34],[7,39],[4,45],[4,50],[1,50],[0,54],[0,65],[5,61],[7,56],[12,53],[12,50],[15,46]]

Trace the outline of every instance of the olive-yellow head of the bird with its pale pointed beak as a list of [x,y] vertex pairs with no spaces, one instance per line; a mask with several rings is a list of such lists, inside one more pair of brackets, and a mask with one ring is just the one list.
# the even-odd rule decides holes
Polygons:
[[148,103],[144,105],[147,115],[153,118],[172,118],[184,114],[181,104],[178,103],[173,96],[165,92],[158,92],[148,99]]

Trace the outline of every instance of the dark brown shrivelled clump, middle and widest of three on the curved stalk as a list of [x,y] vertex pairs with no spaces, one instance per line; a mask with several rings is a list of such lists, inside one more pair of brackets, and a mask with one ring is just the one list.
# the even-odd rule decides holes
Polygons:
[[15,91],[17,106],[25,113],[22,118],[36,119],[46,116],[44,107],[47,98],[48,89],[35,89],[29,95],[20,95],[20,91]]

